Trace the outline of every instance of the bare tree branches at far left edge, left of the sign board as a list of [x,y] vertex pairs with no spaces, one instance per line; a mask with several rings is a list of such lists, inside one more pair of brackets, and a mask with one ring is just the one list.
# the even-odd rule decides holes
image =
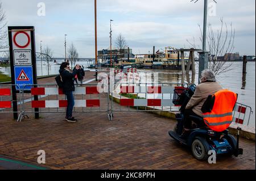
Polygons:
[[7,48],[7,31],[5,22],[5,12],[2,10],[2,2],[0,3],[0,49]]

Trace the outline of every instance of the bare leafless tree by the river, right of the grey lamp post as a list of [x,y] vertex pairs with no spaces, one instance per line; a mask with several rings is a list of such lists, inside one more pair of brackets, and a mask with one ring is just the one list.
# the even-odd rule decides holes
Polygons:
[[[232,70],[233,64],[226,65],[226,60],[224,57],[226,53],[232,53],[234,50],[234,40],[236,31],[234,30],[232,23],[230,23],[230,27],[224,23],[223,18],[220,19],[221,27],[219,30],[213,30],[212,24],[208,24],[208,32],[207,32],[207,43],[208,49],[210,52],[209,57],[209,69],[213,70],[216,75],[220,75],[227,71]],[[200,41],[203,43],[203,31],[199,24],[201,37]],[[188,40],[187,40],[188,41]],[[198,48],[195,45],[195,38],[193,43],[188,41],[193,48]]]

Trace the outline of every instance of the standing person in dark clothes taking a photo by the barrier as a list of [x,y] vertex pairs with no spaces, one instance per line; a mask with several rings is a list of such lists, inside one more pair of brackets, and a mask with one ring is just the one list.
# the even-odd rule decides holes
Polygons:
[[75,69],[72,71],[69,68],[68,62],[63,62],[60,65],[60,76],[63,82],[63,92],[67,96],[68,107],[66,112],[66,119],[68,122],[75,123],[77,120],[75,117],[72,117],[73,107],[75,105],[75,100],[73,98],[73,91],[75,91],[74,78],[76,74],[79,72],[80,65],[77,65]]

